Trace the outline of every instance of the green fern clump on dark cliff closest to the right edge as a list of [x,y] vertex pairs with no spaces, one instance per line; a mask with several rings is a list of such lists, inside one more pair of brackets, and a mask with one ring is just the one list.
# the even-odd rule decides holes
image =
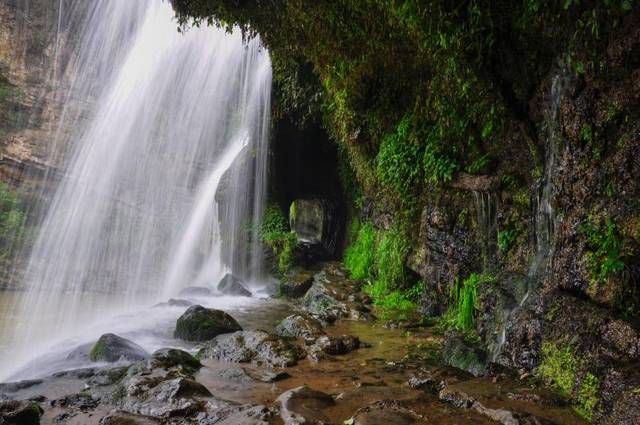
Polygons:
[[587,237],[586,259],[592,282],[603,283],[624,269],[623,240],[609,217],[605,218],[604,226],[587,223],[581,230]]

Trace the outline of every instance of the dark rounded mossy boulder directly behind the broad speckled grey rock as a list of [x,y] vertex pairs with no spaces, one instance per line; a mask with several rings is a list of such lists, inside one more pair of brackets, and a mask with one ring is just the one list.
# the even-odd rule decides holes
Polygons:
[[185,341],[208,341],[218,335],[239,330],[242,327],[224,311],[194,305],[176,322],[174,336]]

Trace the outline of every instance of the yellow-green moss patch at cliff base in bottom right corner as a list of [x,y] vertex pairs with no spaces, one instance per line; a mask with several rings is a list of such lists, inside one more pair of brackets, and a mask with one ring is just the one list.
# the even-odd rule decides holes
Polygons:
[[576,412],[590,421],[598,410],[600,381],[591,372],[587,372],[576,388],[581,368],[582,361],[571,345],[560,347],[553,342],[542,344],[542,362],[538,373],[546,381],[554,384],[563,395],[573,395]]

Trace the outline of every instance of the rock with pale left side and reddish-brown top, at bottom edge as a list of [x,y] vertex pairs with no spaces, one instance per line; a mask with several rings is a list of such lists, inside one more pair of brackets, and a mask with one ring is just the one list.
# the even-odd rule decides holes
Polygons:
[[307,386],[282,393],[276,402],[280,404],[280,416],[285,424],[327,424],[329,418],[323,410],[335,405],[330,395]]

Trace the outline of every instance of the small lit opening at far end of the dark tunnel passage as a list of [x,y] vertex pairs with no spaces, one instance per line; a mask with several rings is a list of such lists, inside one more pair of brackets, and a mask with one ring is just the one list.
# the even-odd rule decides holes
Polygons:
[[325,207],[319,199],[297,199],[289,208],[289,226],[298,240],[309,244],[322,243]]

